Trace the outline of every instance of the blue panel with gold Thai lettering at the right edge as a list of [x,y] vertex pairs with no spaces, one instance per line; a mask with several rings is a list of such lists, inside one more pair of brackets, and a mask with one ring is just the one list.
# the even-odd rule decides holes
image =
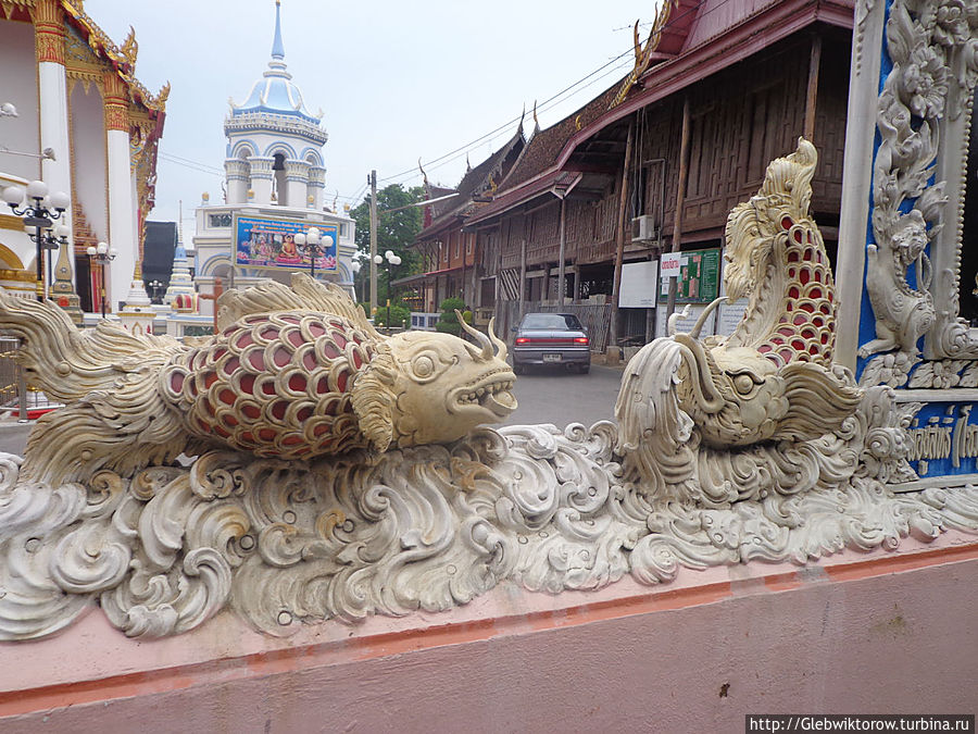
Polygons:
[[928,402],[908,426],[911,466],[920,477],[978,474],[978,409],[971,402]]

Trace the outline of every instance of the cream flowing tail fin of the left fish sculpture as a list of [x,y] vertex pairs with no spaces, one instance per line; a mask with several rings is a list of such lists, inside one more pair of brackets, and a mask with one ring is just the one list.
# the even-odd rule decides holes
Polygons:
[[52,303],[2,291],[0,323],[23,340],[16,359],[27,383],[66,406],[37,420],[23,478],[131,471],[172,461],[199,443],[156,390],[159,370],[185,349],[176,339],[134,335],[106,321],[82,332]]

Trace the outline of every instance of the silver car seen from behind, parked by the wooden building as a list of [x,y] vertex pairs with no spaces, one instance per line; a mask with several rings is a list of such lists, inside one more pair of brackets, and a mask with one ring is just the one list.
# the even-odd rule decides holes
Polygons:
[[531,364],[564,365],[586,373],[591,369],[588,333],[573,313],[527,313],[514,327],[513,372]]

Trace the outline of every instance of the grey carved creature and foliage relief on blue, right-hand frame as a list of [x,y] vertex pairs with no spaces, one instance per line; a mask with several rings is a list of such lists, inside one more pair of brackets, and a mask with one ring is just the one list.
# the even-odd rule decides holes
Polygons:
[[[864,385],[905,384],[920,362],[918,343],[928,334],[945,357],[978,353],[968,346],[967,325],[957,318],[963,209],[957,212],[956,244],[942,241],[949,190],[946,181],[936,179],[941,147],[948,145],[942,140],[946,121],[957,121],[965,112],[970,116],[978,79],[976,30],[978,13],[962,0],[894,0],[889,11],[886,52],[892,67],[877,100],[879,148],[866,251],[876,338],[858,353],[863,359],[893,351],[901,357],[873,358],[861,377]],[[950,157],[961,158],[961,151],[950,151]],[[964,182],[960,202],[963,188]],[[948,245],[956,248],[953,257],[932,251]],[[936,259],[951,266],[935,273]]]

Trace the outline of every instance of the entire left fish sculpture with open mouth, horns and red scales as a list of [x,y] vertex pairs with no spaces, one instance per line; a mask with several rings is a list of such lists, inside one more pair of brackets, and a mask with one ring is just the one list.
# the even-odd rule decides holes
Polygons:
[[[305,274],[225,293],[217,333],[193,344],[109,322],[79,332],[52,303],[0,294],[29,383],[65,403],[38,420],[21,476],[87,478],[229,447],[313,459],[450,443],[516,408],[506,347],[378,333],[339,287]],[[43,461],[33,457],[43,457]]]

